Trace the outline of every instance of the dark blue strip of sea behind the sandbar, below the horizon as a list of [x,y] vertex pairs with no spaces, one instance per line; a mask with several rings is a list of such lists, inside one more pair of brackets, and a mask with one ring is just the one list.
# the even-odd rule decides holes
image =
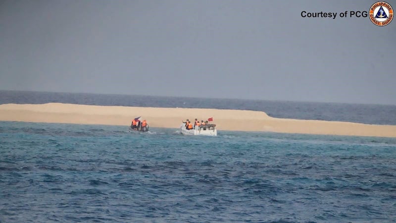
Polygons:
[[102,106],[237,109],[264,111],[272,117],[280,118],[396,125],[396,105],[0,91],[0,104],[44,104],[50,102]]

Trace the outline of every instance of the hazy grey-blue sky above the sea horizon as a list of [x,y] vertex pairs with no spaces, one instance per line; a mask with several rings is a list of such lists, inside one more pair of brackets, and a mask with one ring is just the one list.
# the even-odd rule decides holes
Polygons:
[[396,105],[374,2],[1,0],[0,90]]

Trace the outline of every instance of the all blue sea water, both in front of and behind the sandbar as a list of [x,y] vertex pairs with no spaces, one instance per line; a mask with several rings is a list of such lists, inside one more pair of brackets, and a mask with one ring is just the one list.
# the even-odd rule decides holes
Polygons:
[[[49,102],[396,124],[391,105],[0,91]],[[396,222],[396,138],[128,124],[0,121],[0,222]]]

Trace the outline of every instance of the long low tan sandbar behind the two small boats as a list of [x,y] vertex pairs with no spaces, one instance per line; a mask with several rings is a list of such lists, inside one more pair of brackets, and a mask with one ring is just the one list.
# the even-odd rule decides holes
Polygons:
[[88,106],[61,103],[0,105],[1,121],[128,126],[137,116],[142,116],[141,120],[146,119],[150,127],[178,128],[186,118],[207,120],[213,117],[211,123],[216,124],[219,131],[396,137],[396,125],[273,118],[262,111]]

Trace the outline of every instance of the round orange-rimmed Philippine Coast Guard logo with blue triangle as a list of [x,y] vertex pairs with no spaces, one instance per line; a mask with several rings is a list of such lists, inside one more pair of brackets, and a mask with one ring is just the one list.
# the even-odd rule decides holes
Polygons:
[[369,17],[377,26],[386,26],[393,19],[393,8],[385,1],[377,1],[371,5]]

